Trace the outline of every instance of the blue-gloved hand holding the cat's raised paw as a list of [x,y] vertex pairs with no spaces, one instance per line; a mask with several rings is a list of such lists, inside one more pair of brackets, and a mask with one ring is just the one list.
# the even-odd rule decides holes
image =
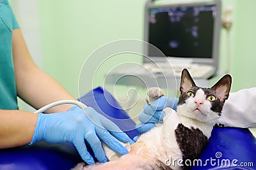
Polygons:
[[146,103],[139,115],[140,123],[136,125],[137,131],[140,133],[147,132],[155,127],[156,123],[163,122],[165,116],[163,109],[169,107],[176,110],[178,101],[177,98],[162,96],[151,104]]

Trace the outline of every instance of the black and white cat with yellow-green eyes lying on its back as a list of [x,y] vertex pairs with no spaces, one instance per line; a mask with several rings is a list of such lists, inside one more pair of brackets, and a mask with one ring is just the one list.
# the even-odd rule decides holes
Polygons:
[[[182,71],[177,112],[164,109],[166,116],[150,131],[141,134],[131,151],[105,164],[76,169],[184,169],[207,144],[228,99],[232,78],[223,76],[211,88],[197,87],[187,69]],[[189,161],[188,161],[189,160]]]

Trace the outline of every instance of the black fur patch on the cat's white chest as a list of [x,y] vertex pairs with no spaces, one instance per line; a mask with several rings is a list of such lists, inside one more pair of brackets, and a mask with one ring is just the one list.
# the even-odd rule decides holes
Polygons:
[[187,159],[192,161],[196,159],[208,142],[207,137],[200,129],[195,129],[194,127],[189,129],[183,124],[179,124],[175,129],[175,137],[183,155],[183,162]]

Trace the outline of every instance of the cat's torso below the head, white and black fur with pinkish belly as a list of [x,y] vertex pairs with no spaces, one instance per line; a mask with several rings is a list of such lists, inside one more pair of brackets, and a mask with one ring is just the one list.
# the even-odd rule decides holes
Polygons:
[[[131,151],[127,155],[104,164],[96,163],[85,166],[84,163],[81,163],[73,170],[182,169],[178,165],[168,166],[169,162],[166,162],[166,160],[170,159],[170,157],[173,160],[191,159],[191,155],[195,156],[200,153],[203,145],[207,142],[207,137],[197,128],[189,129],[182,124],[177,124],[177,120],[175,120],[177,119],[175,117],[176,114],[171,114],[171,117],[165,120],[165,122],[168,122],[168,126],[159,125],[151,131],[142,134],[138,141],[131,145]],[[182,136],[177,136],[177,134],[182,134]],[[187,139],[193,138],[193,136],[195,141],[193,143],[186,143]],[[200,136],[199,141],[196,139],[198,136]]]

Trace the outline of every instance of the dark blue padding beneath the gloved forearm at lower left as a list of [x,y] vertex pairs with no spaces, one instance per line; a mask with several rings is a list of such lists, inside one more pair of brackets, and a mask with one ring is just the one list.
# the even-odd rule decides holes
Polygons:
[[82,162],[71,143],[51,145],[38,142],[32,146],[20,146],[0,150],[1,170],[56,170],[71,169]]

